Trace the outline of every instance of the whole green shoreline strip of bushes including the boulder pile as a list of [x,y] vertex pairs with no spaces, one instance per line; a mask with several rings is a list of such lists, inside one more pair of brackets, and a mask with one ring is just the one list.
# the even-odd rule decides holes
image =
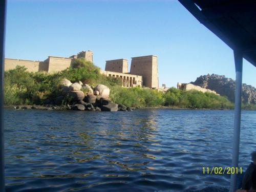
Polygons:
[[[176,88],[159,92],[141,87],[123,88],[121,84],[118,78],[102,75],[98,67],[84,58],[75,59],[70,68],[53,74],[27,72],[25,67],[17,66],[5,72],[4,102],[9,106],[40,105],[53,109],[91,111],[101,111],[103,105],[110,105],[103,111],[162,106],[174,109],[233,109],[233,102],[227,97],[213,93]],[[84,95],[79,96],[78,92]],[[81,105],[84,108],[80,108]],[[256,105],[243,104],[243,109],[256,110]]]

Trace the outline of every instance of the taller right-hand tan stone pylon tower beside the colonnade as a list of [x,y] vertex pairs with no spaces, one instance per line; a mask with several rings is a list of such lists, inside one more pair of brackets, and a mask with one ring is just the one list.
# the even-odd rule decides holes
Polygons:
[[155,55],[132,57],[130,73],[141,75],[145,87],[156,89],[159,87],[158,64]]

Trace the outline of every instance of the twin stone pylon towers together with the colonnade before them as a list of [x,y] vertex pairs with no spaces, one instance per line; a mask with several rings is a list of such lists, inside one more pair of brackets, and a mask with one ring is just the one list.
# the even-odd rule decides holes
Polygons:
[[121,78],[123,87],[144,86],[164,90],[164,88],[159,88],[157,56],[155,55],[132,57],[130,73],[128,73],[127,59],[107,60],[103,74]]

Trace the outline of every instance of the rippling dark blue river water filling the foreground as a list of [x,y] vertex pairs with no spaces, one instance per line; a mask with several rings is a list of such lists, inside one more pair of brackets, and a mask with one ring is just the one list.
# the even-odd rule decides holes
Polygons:
[[[182,191],[229,186],[233,111],[5,111],[7,191]],[[256,148],[242,112],[240,166]]]

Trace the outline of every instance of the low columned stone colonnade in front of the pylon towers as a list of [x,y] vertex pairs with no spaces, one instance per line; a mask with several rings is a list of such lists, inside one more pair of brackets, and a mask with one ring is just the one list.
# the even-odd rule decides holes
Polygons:
[[142,76],[140,75],[133,75],[130,73],[118,73],[112,71],[103,71],[102,74],[106,75],[107,77],[120,78],[123,83],[123,87],[142,87]]

